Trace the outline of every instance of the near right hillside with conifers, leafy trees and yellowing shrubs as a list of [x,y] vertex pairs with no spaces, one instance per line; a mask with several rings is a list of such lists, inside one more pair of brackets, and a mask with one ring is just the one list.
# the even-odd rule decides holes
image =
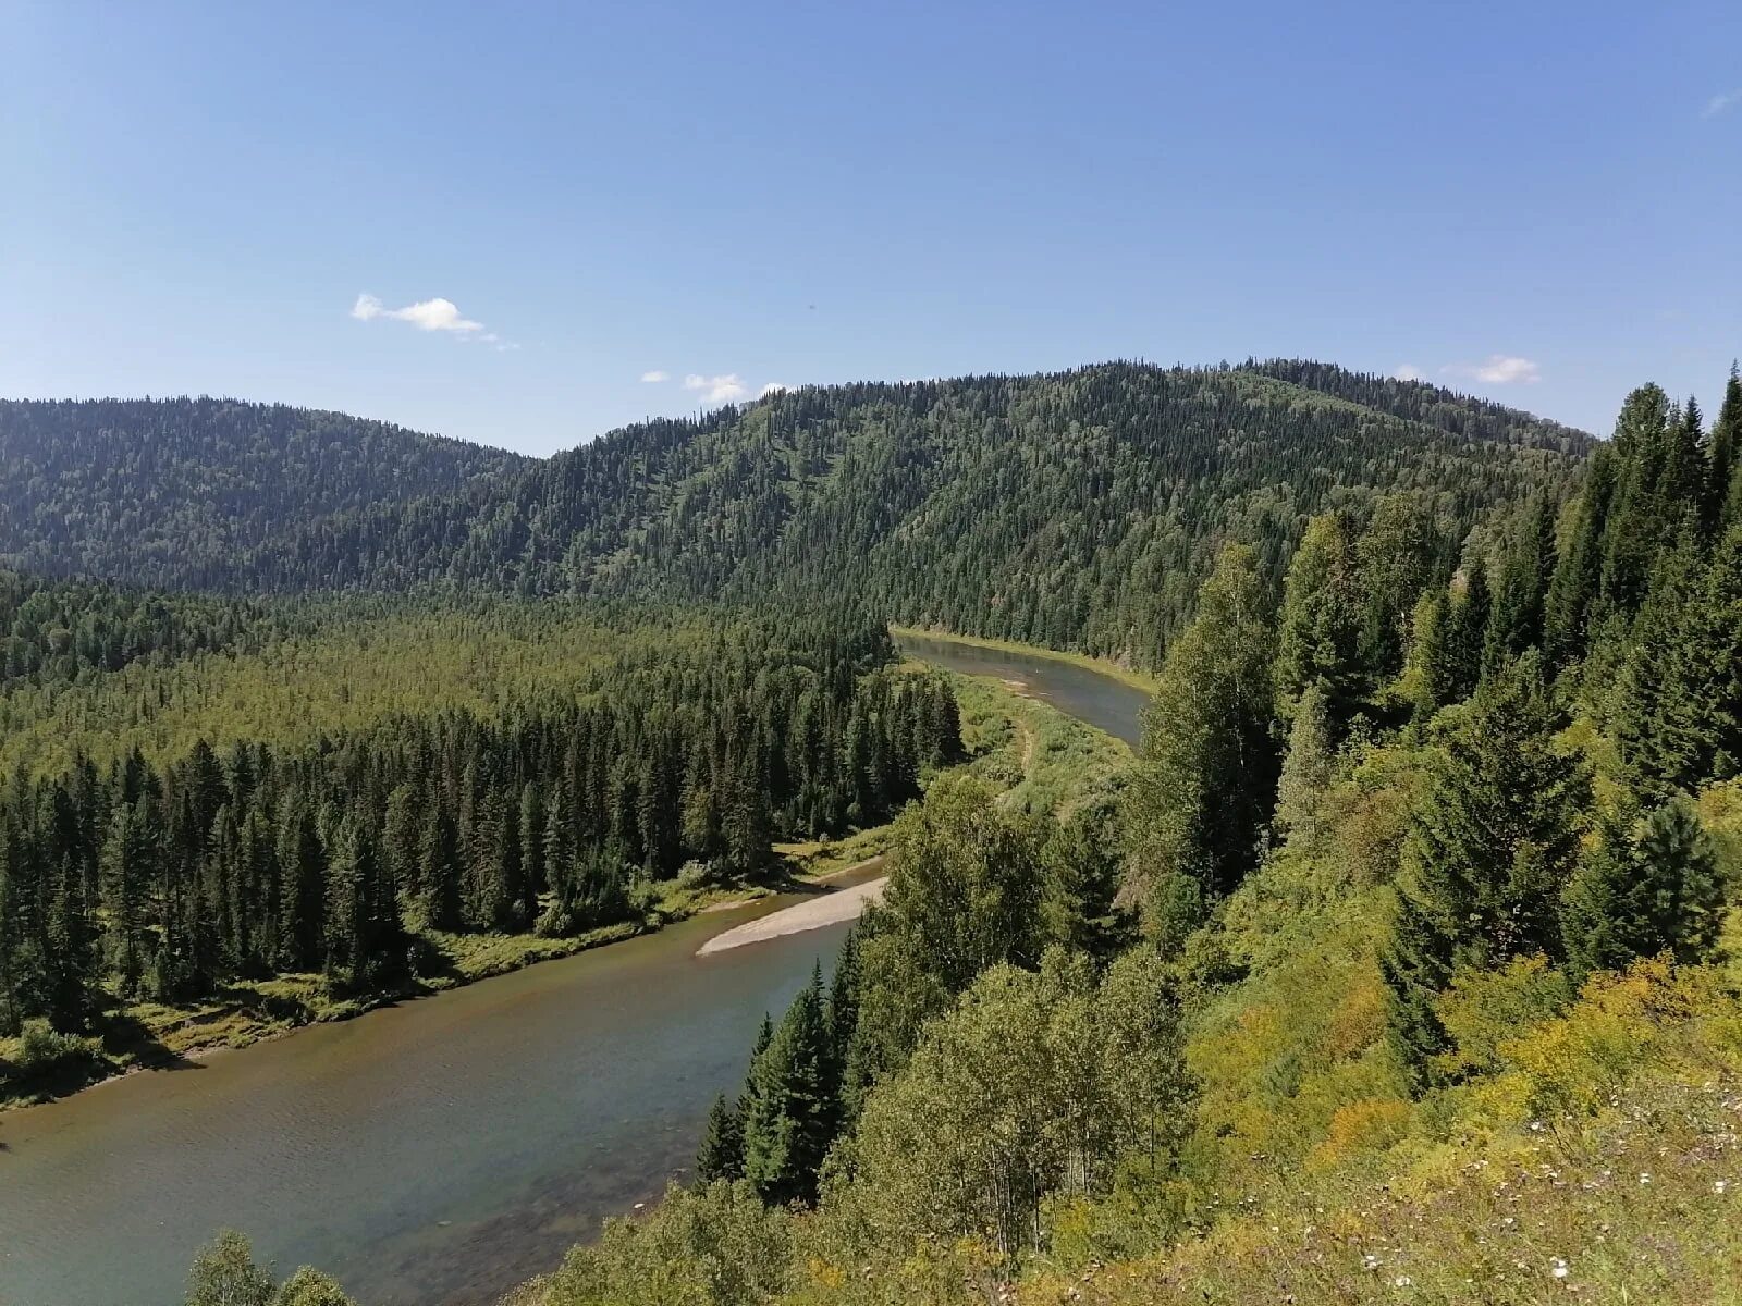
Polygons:
[[1725,1299],[1739,437],[1646,387],[1449,564],[1225,550],[1117,801],[932,785],[699,1182],[516,1301]]

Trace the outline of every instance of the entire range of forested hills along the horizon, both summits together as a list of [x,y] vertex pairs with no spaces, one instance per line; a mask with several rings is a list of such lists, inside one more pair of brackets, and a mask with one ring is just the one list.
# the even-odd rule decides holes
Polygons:
[[1449,555],[1489,508],[1563,495],[1589,444],[1312,362],[810,387],[547,461],[216,401],[14,404],[0,559],[235,590],[845,590],[1151,662],[1226,540],[1279,582],[1312,514],[1418,491]]

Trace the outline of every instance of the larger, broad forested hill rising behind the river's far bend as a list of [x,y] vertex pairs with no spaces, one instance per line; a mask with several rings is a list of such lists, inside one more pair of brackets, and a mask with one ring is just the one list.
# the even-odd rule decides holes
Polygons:
[[1272,583],[1327,508],[1420,491],[1444,547],[1552,488],[1580,432],[1305,362],[866,383],[611,432],[490,495],[303,522],[237,589],[854,597],[909,623],[1158,656],[1221,542]]

